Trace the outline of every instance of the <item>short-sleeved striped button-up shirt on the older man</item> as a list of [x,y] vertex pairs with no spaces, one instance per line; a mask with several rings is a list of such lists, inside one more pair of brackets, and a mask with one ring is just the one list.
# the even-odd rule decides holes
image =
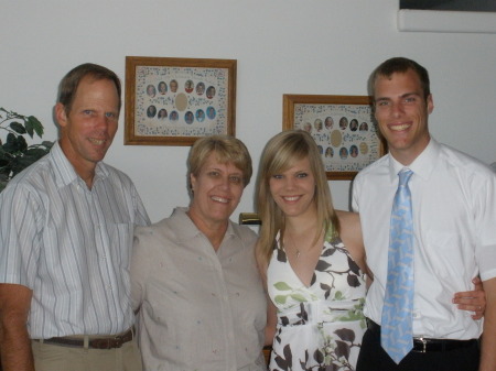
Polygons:
[[126,174],[100,162],[88,189],[55,143],[0,193],[0,283],[33,291],[31,338],[133,324],[132,234],[150,220]]

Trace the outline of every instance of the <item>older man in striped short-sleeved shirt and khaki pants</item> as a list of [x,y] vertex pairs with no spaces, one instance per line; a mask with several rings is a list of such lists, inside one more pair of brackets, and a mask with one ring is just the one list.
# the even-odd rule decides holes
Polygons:
[[141,370],[130,304],[136,225],[149,225],[127,175],[103,163],[119,78],[93,64],[60,85],[61,139],[0,194],[3,371]]

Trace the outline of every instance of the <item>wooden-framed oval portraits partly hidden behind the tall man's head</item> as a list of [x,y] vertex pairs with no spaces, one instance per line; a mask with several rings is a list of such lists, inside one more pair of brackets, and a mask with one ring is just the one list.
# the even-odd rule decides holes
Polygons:
[[386,153],[369,96],[283,95],[282,129],[311,133],[327,179],[353,179]]

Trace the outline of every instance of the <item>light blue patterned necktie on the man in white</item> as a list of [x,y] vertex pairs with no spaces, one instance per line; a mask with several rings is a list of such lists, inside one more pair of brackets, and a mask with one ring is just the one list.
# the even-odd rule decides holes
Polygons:
[[413,219],[408,181],[413,172],[403,168],[392,204],[388,252],[388,281],[384,299],[380,342],[396,363],[413,348]]

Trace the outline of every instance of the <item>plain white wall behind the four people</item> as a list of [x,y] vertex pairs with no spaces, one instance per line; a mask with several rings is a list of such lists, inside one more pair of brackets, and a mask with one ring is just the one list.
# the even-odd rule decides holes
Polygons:
[[[236,132],[256,168],[281,130],[283,94],[366,95],[371,69],[403,55],[431,74],[431,131],[496,161],[496,35],[400,33],[398,0],[0,0],[0,106],[36,116],[56,138],[56,87],[93,62],[125,77],[125,57],[238,61]],[[123,113],[123,112],[122,112]],[[153,221],[188,203],[188,148],[123,145],[123,114],[106,161],[134,181]],[[252,210],[254,183],[237,212]],[[348,207],[349,182],[331,182]]]

